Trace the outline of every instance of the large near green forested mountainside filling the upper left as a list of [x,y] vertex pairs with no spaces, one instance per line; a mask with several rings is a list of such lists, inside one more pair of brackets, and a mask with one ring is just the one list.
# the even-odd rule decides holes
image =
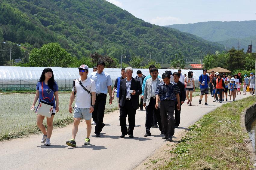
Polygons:
[[[178,53],[196,58],[200,50],[205,55],[223,49],[195,35],[144,22],[104,0],[0,0],[0,11],[0,40],[25,50],[58,42],[78,58],[94,52],[117,59],[126,55],[128,60],[133,54],[146,59],[151,54],[167,63]],[[1,43],[0,61],[8,60],[8,49],[8,43]]]

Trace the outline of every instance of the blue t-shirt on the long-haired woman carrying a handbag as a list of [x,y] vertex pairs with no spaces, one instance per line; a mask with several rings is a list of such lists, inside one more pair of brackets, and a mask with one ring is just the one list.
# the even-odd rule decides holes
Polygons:
[[[38,102],[40,102],[40,99],[43,99],[43,93],[42,93],[42,82],[39,81],[37,82],[36,84],[36,90],[39,91],[39,99],[38,99]],[[52,102],[48,99],[45,99],[46,102],[50,102],[50,103],[53,103],[53,108],[55,109],[56,108],[56,103],[55,103],[55,97],[54,97],[54,92],[57,92],[58,91],[58,85],[56,83],[56,81],[54,82],[54,85],[53,85],[53,89],[50,89],[50,87],[48,85],[45,84],[45,82],[43,81],[43,90],[44,90],[44,98],[45,97],[48,97],[50,100],[52,99],[53,97],[53,100]]]

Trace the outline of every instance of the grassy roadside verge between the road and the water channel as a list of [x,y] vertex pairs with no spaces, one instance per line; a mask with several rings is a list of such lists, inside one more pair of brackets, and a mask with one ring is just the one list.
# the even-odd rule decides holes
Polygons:
[[[256,98],[227,103],[206,114],[169,153],[157,169],[253,169],[242,132],[240,114]],[[159,158],[161,160],[161,158]]]

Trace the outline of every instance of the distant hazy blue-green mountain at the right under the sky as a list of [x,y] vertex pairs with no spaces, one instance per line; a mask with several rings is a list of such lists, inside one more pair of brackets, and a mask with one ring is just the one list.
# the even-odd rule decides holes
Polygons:
[[[245,52],[248,45],[256,44],[256,20],[252,21],[209,21],[194,24],[174,24],[165,26],[175,28],[182,32],[197,35],[208,41],[218,42],[229,47],[237,47],[240,41],[240,49],[244,48]],[[228,41],[227,41],[228,38]],[[255,49],[253,49],[255,52]]]

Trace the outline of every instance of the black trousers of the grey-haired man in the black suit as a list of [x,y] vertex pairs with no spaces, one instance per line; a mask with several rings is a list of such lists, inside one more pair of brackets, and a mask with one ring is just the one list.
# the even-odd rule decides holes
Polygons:
[[[133,129],[135,126],[135,114],[136,114],[136,109],[132,107],[131,100],[126,100],[124,107],[120,108],[120,116],[119,116],[122,134],[133,135]],[[127,115],[128,115],[128,123],[129,123],[128,131],[126,126]]]

